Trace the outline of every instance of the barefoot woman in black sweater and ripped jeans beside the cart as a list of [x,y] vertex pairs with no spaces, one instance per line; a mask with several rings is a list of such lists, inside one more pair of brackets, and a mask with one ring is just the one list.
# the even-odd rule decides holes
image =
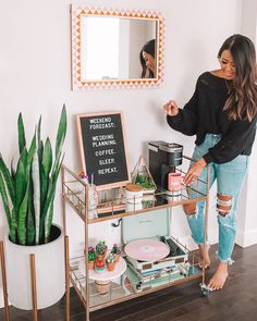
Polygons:
[[[219,223],[219,264],[210,279],[210,289],[223,287],[235,242],[235,211],[247,171],[248,156],[256,134],[257,73],[254,44],[245,36],[233,35],[221,46],[220,69],[201,74],[184,109],[174,100],[163,106],[169,125],[185,135],[196,135],[194,162],[185,184],[194,184],[210,171],[210,186],[217,181]],[[184,207],[201,264],[210,264],[204,247],[204,201]]]

